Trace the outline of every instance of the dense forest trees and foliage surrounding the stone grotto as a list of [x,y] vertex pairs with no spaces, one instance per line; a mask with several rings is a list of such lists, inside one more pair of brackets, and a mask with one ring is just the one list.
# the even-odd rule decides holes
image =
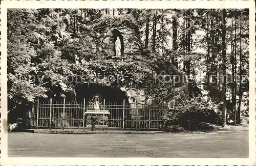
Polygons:
[[[70,73],[86,70],[93,75],[99,68],[111,73],[115,66],[117,70],[135,66],[133,59],[106,64],[99,57],[109,55],[97,58],[91,49],[100,37],[97,25],[112,19],[133,26],[140,39],[138,61],[147,59],[152,66],[172,63],[193,80],[199,100],[221,103],[220,111],[231,103],[234,123],[241,123],[241,113],[248,115],[248,9],[9,9],[8,119],[38,97],[76,98],[78,85],[66,82]],[[88,63],[76,65],[75,56]],[[145,64],[136,63],[133,71],[149,73]],[[38,78],[32,81],[34,75],[42,78],[40,84]],[[140,87],[146,80],[124,84]],[[104,81],[97,84],[111,86]],[[160,93],[156,89],[154,93]]]

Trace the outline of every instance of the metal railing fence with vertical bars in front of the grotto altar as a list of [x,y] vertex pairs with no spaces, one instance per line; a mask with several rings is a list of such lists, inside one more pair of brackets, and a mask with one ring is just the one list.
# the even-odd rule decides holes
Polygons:
[[26,128],[49,130],[161,130],[163,108],[140,103],[37,100]]

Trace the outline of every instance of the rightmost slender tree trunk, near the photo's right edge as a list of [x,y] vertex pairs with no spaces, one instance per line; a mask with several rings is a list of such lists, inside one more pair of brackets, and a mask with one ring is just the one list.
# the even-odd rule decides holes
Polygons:
[[242,23],[240,18],[240,50],[239,50],[239,59],[240,59],[240,66],[239,66],[239,103],[238,103],[238,112],[237,112],[237,123],[241,123],[241,102],[242,102]]

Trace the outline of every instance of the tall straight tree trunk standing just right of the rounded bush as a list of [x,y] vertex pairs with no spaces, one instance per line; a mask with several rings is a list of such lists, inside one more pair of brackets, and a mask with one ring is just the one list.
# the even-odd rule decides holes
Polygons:
[[227,125],[226,120],[226,9],[222,9],[222,123],[223,127]]

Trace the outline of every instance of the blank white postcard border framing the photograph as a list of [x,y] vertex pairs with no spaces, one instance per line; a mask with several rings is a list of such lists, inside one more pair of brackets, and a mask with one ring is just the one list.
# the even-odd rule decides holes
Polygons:
[[[249,158],[36,158],[8,157],[7,9],[8,8],[249,8]],[[254,1],[1,1],[1,165],[254,165],[255,164],[255,3]],[[236,146],[236,145],[234,145]]]

